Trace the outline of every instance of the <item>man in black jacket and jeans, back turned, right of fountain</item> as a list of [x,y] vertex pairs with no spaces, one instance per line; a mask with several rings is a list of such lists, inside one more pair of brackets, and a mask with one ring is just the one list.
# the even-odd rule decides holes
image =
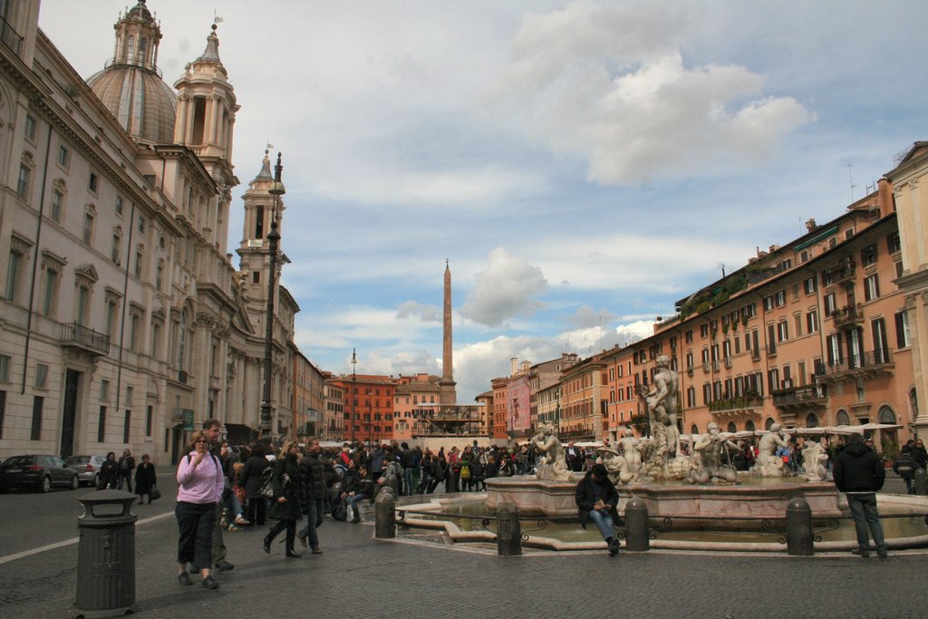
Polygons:
[[869,527],[877,555],[880,559],[886,558],[883,525],[876,509],[876,493],[883,488],[885,479],[886,471],[879,456],[864,445],[862,435],[851,434],[849,444],[834,460],[834,484],[847,496],[847,507],[851,509],[857,531],[857,548],[851,552],[861,557],[870,557]]

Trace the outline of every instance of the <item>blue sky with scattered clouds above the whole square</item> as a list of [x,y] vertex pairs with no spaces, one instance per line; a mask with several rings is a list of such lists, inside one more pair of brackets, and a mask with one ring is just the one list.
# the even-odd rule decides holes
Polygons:
[[[126,6],[42,0],[39,26],[86,79]],[[356,349],[358,374],[440,376],[447,260],[461,403],[511,357],[650,334],[928,139],[922,0],[148,7],[172,85],[222,19],[239,207],[264,148],[283,153],[303,355],[351,373]]]

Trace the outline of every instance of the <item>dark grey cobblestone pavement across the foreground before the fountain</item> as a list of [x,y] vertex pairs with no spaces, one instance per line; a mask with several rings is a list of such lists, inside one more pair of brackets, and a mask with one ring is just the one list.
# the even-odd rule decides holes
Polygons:
[[[329,519],[322,555],[262,551],[265,529],[226,534],[233,571],[211,591],[176,582],[171,505],[137,508],[136,603],[142,617],[922,617],[922,554],[797,558],[656,552],[526,551],[374,539],[371,524]],[[440,540],[437,535],[424,536]],[[5,617],[73,616],[77,545],[0,563]],[[913,586],[914,585],[914,586]]]

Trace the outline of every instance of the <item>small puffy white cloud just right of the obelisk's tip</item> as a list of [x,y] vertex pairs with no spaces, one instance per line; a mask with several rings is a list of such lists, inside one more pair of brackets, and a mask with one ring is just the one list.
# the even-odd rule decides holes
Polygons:
[[548,291],[541,269],[497,248],[490,252],[486,270],[460,308],[461,316],[487,327],[498,327],[511,316],[532,316],[542,303],[533,297]]

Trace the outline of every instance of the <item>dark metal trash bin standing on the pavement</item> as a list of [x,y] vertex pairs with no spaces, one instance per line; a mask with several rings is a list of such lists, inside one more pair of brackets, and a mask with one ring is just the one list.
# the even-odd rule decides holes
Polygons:
[[77,617],[115,617],[135,612],[135,495],[122,490],[90,492],[78,499]]

